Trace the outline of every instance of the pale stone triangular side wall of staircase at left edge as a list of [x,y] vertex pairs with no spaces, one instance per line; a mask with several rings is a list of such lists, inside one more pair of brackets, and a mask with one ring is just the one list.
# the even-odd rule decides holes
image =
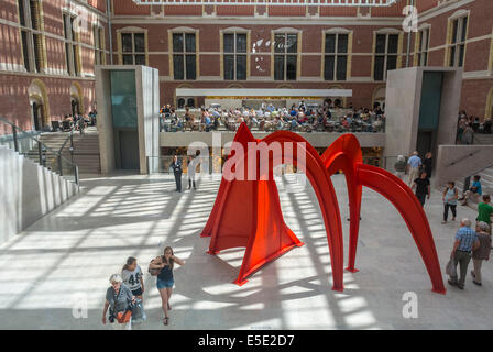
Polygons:
[[77,191],[74,183],[0,145],[0,245]]

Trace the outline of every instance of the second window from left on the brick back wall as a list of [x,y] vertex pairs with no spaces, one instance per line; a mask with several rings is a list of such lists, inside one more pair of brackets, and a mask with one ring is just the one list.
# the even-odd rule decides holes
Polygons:
[[195,33],[173,33],[173,78],[197,79]]

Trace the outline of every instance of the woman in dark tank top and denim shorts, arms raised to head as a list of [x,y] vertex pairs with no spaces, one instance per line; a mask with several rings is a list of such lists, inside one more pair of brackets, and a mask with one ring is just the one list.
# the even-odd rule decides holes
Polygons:
[[160,270],[157,274],[156,286],[161,295],[161,302],[164,311],[163,323],[167,326],[169,323],[169,317],[167,316],[168,310],[172,309],[169,305],[169,298],[173,293],[173,285],[175,284],[173,277],[173,267],[177,263],[179,265],[185,265],[185,262],[174,255],[173,249],[166,246],[164,249],[164,255],[160,255],[154,258],[149,265],[150,270]]

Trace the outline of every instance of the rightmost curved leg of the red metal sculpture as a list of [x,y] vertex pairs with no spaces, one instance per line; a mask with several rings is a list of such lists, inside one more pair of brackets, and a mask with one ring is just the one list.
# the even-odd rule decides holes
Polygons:
[[426,270],[431,279],[432,290],[445,294],[446,288],[443,286],[431,229],[429,228],[421,205],[410,188],[395,175],[382,168],[365,164],[358,165],[358,179],[363,186],[370,187],[383,195],[397,208],[406,221],[425,262]]

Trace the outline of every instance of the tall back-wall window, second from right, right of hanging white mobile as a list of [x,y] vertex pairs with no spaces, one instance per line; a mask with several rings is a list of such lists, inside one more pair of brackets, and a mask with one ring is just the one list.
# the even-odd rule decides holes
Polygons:
[[325,80],[347,79],[348,42],[348,34],[326,34],[326,53],[324,57]]

